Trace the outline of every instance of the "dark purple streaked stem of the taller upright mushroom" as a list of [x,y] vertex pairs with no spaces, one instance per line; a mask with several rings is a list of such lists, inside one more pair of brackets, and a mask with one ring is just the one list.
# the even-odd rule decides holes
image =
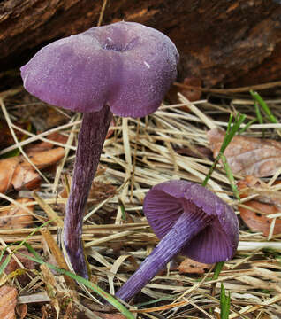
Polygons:
[[85,278],[88,278],[88,274],[81,241],[82,222],[88,193],[111,119],[112,113],[108,105],[104,105],[98,112],[84,113],[78,137],[72,187],[65,209],[65,249],[74,271]]

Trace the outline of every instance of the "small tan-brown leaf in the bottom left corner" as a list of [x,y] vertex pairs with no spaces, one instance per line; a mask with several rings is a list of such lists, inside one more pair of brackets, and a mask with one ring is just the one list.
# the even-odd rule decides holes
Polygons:
[[18,292],[16,288],[4,285],[0,288],[0,318],[15,319]]

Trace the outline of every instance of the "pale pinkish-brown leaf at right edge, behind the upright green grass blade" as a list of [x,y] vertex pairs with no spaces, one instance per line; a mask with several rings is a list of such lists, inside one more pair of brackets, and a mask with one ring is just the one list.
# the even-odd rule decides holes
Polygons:
[[[213,128],[207,137],[216,158],[224,140],[224,131]],[[234,174],[265,177],[274,175],[281,167],[281,143],[275,140],[234,136],[224,155]]]

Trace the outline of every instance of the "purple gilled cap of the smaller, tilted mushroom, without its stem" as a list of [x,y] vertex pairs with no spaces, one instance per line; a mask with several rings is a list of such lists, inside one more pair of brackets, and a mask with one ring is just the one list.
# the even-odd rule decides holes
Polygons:
[[232,207],[197,183],[168,181],[154,186],[143,211],[157,237],[164,237],[183,212],[201,209],[212,216],[209,225],[182,252],[195,261],[214,263],[232,259],[239,242],[239,222]]

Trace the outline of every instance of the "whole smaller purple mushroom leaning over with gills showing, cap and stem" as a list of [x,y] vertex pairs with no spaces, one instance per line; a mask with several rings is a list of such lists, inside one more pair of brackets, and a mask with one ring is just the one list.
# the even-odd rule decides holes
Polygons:
[[231,206],[197,183],[169,181],[154,186],[144,199],[143,212],[156,236],[156,248],[118,290],[128,301],[157,272],[182,253],[195,261],[232,259],[239,242],[239,223]]

